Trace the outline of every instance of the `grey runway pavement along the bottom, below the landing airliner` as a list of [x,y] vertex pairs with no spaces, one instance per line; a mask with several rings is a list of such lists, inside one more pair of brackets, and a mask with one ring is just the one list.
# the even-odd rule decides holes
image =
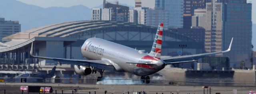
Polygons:
[[[132,94],[133,91],[140,92],[145,91],[146,94],[202,94],[202,86],[172,86],[172,85],[102,85],[102,84],[41,84],[41,83],[0,83],[0,94],[21,94],[19,91],[20,86],[52,86],[54,93],[57,90],[57,94],[72,94],[72,90],[77,90],[76,94]],[[211,88],[211,94],[233,94],[233,90],[237,90],[237,94],[248,94],[249,91],[255,91],[256,86],[209,86]],[[210,94],[208,90],[208,94]],[[207,92],[207,89],[205,89]],[[27,93],[24,93],[27,94]],[[38,93],[29,93],[38,94]],[[74,93],[75,94],[75,93]],[[206,93],[207,94],[207,93]]]

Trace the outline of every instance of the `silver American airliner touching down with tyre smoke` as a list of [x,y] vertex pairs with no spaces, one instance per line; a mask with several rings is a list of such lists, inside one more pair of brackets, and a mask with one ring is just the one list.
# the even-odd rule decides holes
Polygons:
[[129,72],[141,76],[140,80],[148,84],[150,83],[150,77],[148,75],[164,69],[166,65],[194,62],[206,55],[226,53],[231,50],[233,38],[226,51],[161,58],[163,25],[163,23],[158,25],[150,53],[145,53],[145,50],[137,50],[93,37],[87,39],[81,47],[83,57],[88,60],[34,56],[33,43],[31,45],[30,55],[38,59],[53,60],[60,64],[73,64],[75,72],[80,75],[89,75],[98,71],[101,76],[98,77],[97,81],[100,81],[103,77],[103,72],[108,70]]

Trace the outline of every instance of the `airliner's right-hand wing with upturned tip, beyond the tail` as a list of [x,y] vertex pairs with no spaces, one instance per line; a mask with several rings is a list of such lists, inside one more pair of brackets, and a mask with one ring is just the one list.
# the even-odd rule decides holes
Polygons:
[[226,53],[226,52],[230,51],[232,42],[233,42],[233,38],[230,42],[229,48],[226,51],[213,52],[213,53],[202,53],[202,54],[196,54],[196,55],[184,55],[184,56],[177,56],[177,57],[166,57],[166,58],[162,58],[162,60],[164,62],[166,62],[166,65],[194,62],[197,59],[208,56],[208,55],[215,55],[215,54]]

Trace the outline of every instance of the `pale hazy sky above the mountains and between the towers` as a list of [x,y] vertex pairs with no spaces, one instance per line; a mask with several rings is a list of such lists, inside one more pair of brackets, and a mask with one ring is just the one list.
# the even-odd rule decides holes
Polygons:
[[[70,7],[75,5],[84,5],[88,8],[94,8],[100,6],[103,3],[103,0],[18,0],[26,4],[36,5],[43,8],[48,8],[52,6],[62,6]],[[134,6],[134,0],[118,0],[119,3],[128,4]],[[256,0],[248,0],[252,2],[252,23],[256,23]]]

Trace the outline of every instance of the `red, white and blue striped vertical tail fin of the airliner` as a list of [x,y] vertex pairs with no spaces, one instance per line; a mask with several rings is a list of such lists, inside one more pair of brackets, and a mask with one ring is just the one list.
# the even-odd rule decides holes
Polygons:
[[164,23],[160,23],[160,25],[158,26],[152,49],[151,49],[150,53],[148,54],[148,55],[150,55],[152,57],[156,57],[158,59],[161,58],[163,26],[164,26]]

